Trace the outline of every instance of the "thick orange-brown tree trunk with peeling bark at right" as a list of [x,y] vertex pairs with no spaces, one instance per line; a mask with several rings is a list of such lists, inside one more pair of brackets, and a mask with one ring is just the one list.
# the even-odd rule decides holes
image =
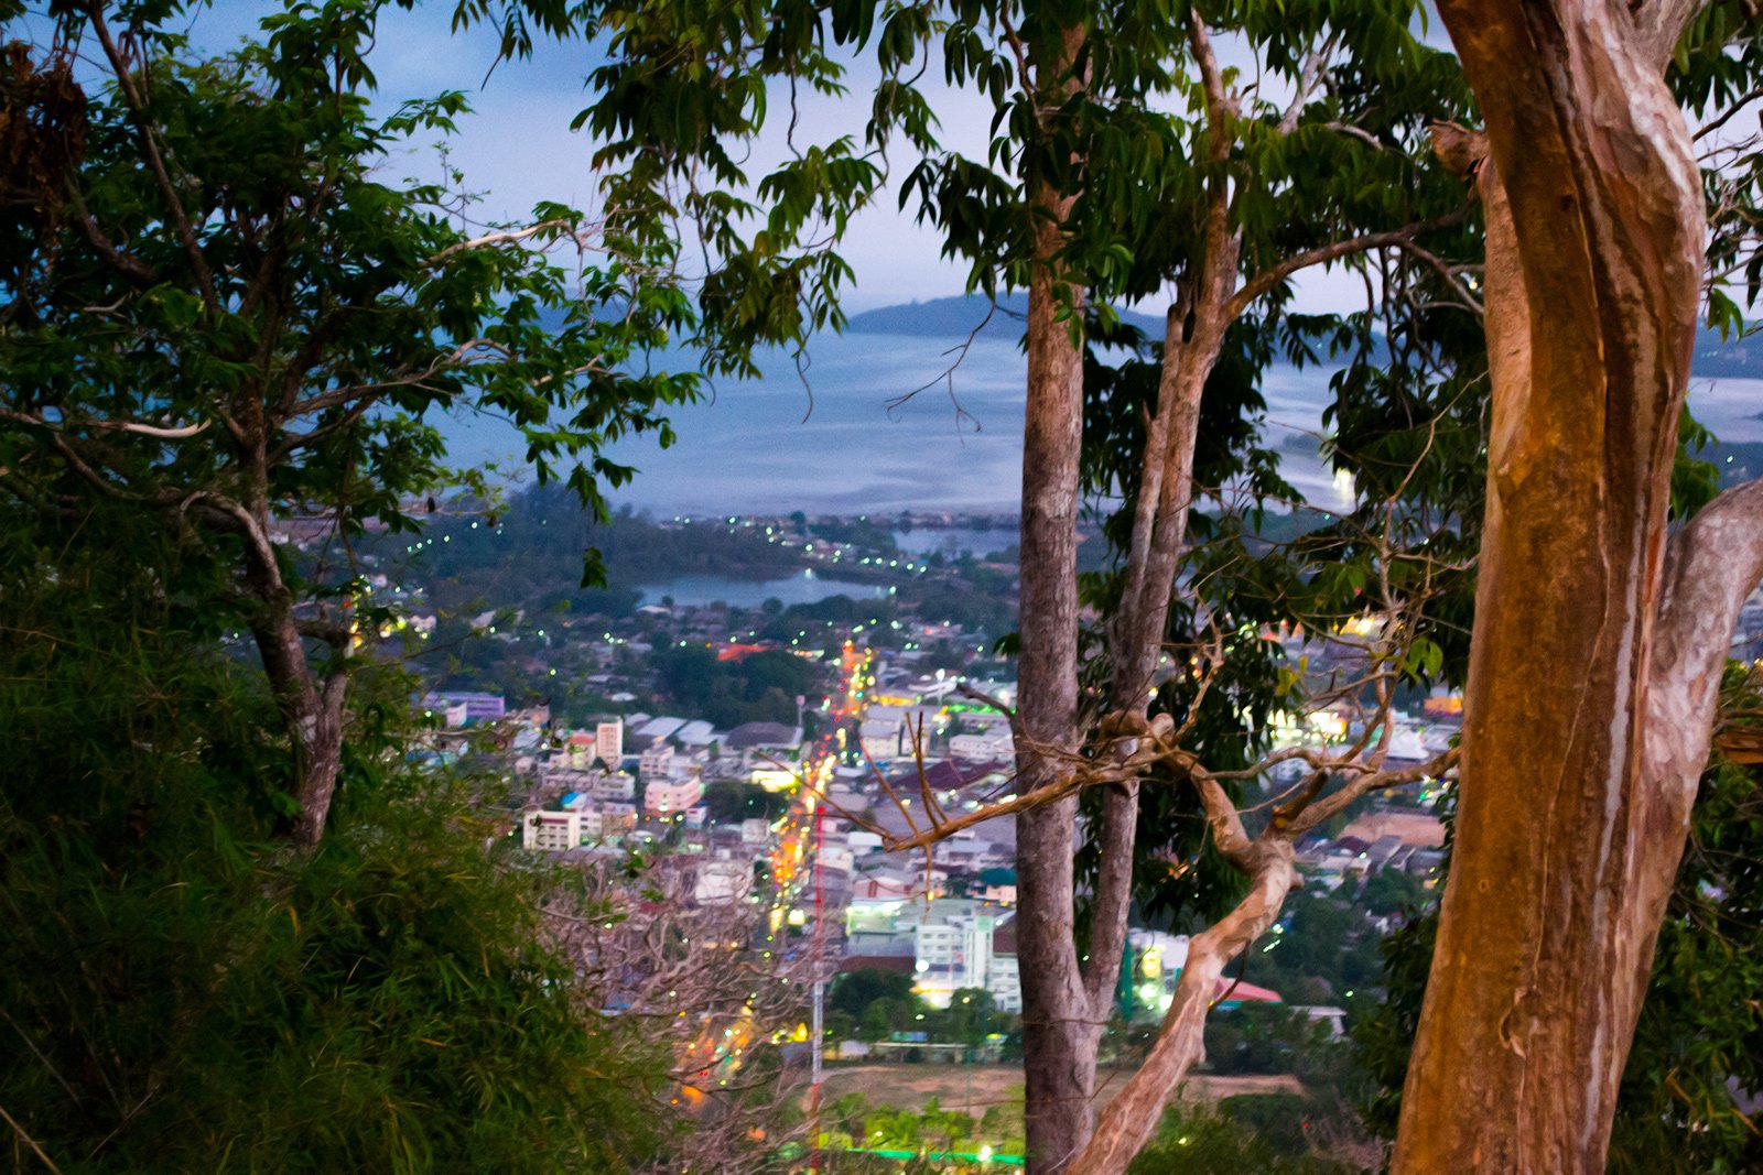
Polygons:
[[[1604,1170],[1759,573],[1752,555],[1696,606],[1666,581],[1703,197],[1663,67],[1691,7],[1440,4],[1488,122],[1493,435],[1456,849],[1396,1171]],[[1710,525],[1678,536],[1675,569]]]

